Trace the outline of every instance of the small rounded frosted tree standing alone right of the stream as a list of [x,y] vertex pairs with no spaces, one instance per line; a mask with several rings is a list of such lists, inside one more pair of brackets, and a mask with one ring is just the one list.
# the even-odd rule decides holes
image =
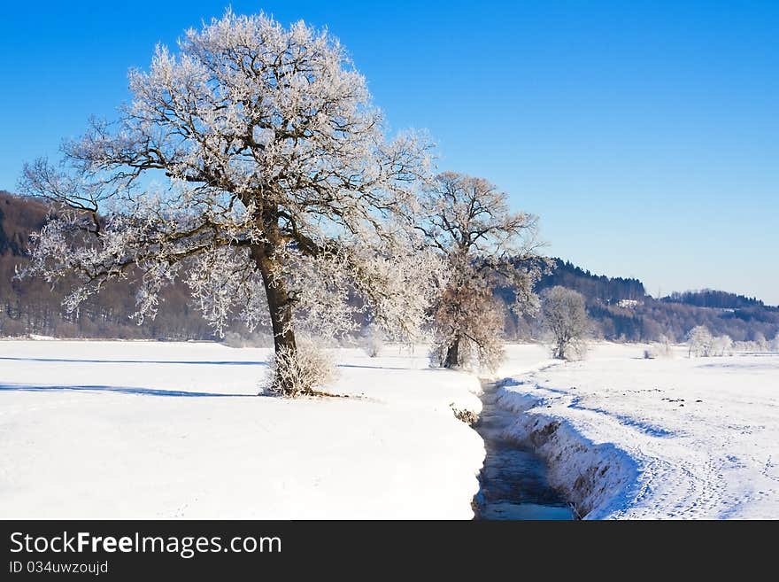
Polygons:
[[559,285],[544,291],[541,323],[551,334],[553,357],[575,360],[584,355],[592,324],[582,293]]

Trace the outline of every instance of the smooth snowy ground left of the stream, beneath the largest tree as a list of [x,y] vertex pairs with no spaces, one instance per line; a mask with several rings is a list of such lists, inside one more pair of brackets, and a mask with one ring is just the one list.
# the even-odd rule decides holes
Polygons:
[[473,376],[342,350],[336,392],[257,398],[267,351],[0,342],[0,518],[470,518]]

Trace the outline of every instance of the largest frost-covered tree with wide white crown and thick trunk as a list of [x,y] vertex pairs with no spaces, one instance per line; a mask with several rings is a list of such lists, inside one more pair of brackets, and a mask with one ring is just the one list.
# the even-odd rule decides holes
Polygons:
[[[235,317],[269,320],[281,362],[301,325],[351,329],[354,292],[388,333],[420,327],[433,269],[395,219],[413,205],[426,148],[385,138],[332,36],[227,12],[187,31],[177,53],[159,46],[129,86],[118,121],[93,121],[59,165],[25,167],[22,189],[56,203],[27,274],[80,275],[66,301],[76,309],[109,279],[143,273],[140,321],[182,278],[220,332]],[[296,393],[293,376],[273,384]]]

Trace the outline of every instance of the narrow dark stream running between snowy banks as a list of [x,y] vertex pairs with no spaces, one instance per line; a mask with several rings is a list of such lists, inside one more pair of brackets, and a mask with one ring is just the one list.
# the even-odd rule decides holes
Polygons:
[[487,456],[474,497],[476,519],[574,519],[567,502],[549,485],[544,461],[503,437],[515,413],[498,407],[495,384],[482,383],[482,415],[474,425]]

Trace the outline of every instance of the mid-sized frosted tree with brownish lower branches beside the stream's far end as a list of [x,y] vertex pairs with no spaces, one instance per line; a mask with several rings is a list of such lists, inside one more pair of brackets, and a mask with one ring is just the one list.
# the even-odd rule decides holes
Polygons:
[[436,176],[422,207],[417,229],[445,265],[433,315],[433,361],[495,369],[504,313],[492,291],[512,288],[517,313],[536,306],[533,286],[545,265],[536,252],[537,219],[511,212],[505,193],[487,180],[453,172]]

